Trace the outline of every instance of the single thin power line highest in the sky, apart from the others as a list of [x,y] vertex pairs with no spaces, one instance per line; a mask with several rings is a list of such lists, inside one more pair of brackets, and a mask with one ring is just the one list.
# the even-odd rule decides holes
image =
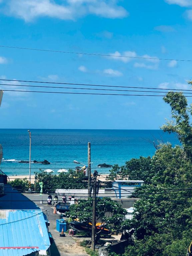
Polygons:
[[175,60],[175,61],[192,61],[185,59],[164,59],[164,58],[155,58],[155,57],[136,57],[136,56],[125,56],[125,55],[114,55],[114,54],[100,54],[100,53],[84,53],[84,52],[69,52],[69,51],[58,51],[58,50],[46,50],[46,49],[37,49],[37,48],[27,48],[27,47],[16,47],[16,46],[5,46],[0,45],[4,48],[13,48],[13,49],[22,49],[22,50],[33,50],[33,51],[44,51],[44,52],[58,52],[58,53],[69,53],[69,54],[82,54],[82,55],[93,55],[93,56],[104,56],[104,57],[118,57],[118,58],[133,58],[133,59],[150,59],[150,60]]

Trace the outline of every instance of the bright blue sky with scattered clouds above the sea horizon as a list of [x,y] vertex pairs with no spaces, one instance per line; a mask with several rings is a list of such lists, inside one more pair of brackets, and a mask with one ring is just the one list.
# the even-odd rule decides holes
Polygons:
[[[191,29],[192,0],[0,0],[5,46],[192,59]],[[190,89],[191,67],[0,47],[2,79]],[[170,108],[162,97],[4,92],[0,118],[0,128],[158,129]]]

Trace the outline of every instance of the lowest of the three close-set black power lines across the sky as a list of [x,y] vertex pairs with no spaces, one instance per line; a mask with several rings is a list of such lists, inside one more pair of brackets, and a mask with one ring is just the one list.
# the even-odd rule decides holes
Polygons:
[[[152,97],[165,97],[166,95],[152,95],[152,94],[116,94],[116,93],[85,93],[85,92],[48,92],[48,91],[22,91],[22,90],[3,90],[8,92],[33,92],[33,93],[57,93],[57,94],[83,94],[83,95],[112,95],[112,96],[152,96]],[[170,95],[174,96],[174,95]],[[192,97],[186,95],[185,97]]]

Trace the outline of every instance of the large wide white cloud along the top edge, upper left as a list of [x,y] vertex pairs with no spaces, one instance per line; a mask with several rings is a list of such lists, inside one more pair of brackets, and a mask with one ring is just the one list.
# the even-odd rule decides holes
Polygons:
[[3,0],[7,15],[30,22],[38,17],[75,20],[78,17],[95,14],[105,18],[123,18],[128,12],[117,5],[118,0],[65,0],[57,4],[54,0]]

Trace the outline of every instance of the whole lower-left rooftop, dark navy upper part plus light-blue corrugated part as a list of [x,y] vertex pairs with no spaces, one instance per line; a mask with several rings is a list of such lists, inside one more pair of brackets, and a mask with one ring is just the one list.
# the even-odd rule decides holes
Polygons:
[[50,246],[44,213],[27,197],[5,184],[0,197],[0,256],[42,254]]

